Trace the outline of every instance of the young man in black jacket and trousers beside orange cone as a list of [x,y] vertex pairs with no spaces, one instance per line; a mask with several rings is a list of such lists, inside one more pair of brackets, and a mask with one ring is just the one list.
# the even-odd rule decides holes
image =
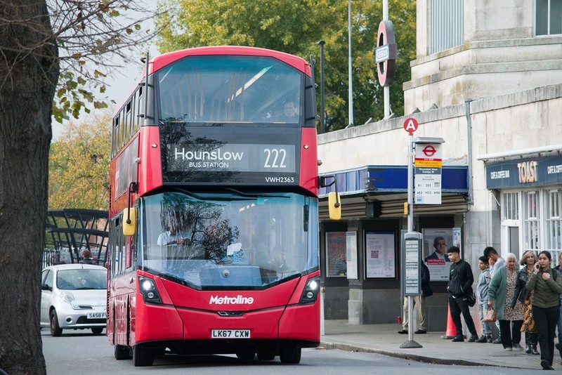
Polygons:
[[449,260],[452,262],[449,272],[449,284],[447,291],[449,291],[449,309],[451,319],[455,323],[457,336],[452,341],[464,341],[462,334],[461,313],[466,322],[466,327],[469,329],[471,336],[469,343],[478,339],[474,322],[470,315],[468,294],[472,291],[472,283],[474,277],[472,275],[472,268],[469,263],[461,259],[460,249],[457,246],[451,246],[447,251]]

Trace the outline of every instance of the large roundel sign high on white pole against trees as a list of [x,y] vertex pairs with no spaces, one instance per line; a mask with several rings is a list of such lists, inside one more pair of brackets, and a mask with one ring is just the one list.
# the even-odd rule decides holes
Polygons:
[[396,70],[396,39],[394,38],[394,27],[390,20],[379,23],[377,49],[374,50],[374,58],[377,62],[379,84],[390,86]]

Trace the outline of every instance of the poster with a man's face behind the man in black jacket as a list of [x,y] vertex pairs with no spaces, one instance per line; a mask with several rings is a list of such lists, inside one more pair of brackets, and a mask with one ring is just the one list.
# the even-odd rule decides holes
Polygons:
[[[460,228],[426,228],[424,235],[424,261],[429,269],[431,281],[449,281],[451,263],[447,249],[460,243]],[[462,249],[461,249],[462,257]]]

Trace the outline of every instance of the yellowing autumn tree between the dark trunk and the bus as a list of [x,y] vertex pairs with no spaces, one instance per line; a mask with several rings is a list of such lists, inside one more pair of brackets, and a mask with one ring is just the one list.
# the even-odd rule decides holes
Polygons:
[[50,209],[107,210],[110,112],[70,121],[51,144],[48,163]]

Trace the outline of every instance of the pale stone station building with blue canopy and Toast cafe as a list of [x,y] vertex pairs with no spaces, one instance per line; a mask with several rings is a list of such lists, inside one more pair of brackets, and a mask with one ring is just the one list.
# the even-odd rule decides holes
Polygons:
[[[434,9],[443,3],[458,5],[452,12],[463,20],[462,37],[434,52],[432,27],[458,27],[447,25],[451,17],[439,13],[443,9]],[[326,202],[320,206],[326,319],[376,324],[402,315],[407,118],[419,123],[414,138],[445,141],[442,203],[413,207],[414,230],[424,235],[422,257],[433,251],[435,237],[445,235],[447,246],[461,247],[476,280],[485,246],[517,258],[528,249],[546,249],[557,264],[562,32],[538,34],[544,30],[537,3],[418,0],[417,59],[411,81],[403,85],[405,113],[415,113],[318,136],[320,174],[336,178],[343,206],[338,222],[327,220]],[[347,274],[331,275],[342,253]],[[435,292],[428,298],[430,331],[444,330],[447,322],[443,267],[430,267]]]

